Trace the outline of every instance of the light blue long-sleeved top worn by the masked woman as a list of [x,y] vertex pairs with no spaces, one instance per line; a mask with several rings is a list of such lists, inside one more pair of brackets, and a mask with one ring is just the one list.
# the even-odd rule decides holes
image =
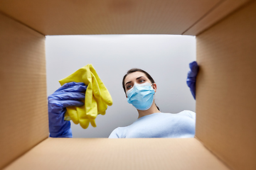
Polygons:
[[132,125],[118,127],[109,138],[194,137],[196,113],[153,113],[137,119]]

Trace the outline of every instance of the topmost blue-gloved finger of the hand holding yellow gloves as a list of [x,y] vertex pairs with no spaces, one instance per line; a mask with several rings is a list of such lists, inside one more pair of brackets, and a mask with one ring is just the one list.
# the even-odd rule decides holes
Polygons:
[[84,83],[70,82],[64,84],[54,93],[63,93],[63,92],[84,92],[87,89],[87,86]]

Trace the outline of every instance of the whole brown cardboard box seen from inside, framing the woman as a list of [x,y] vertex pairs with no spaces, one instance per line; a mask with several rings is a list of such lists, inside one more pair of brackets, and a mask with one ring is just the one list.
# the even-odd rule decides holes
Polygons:
[[[0,2],[1,169],[256,169],[256,2]],[[196,137],[48,138],[45,35],[196,35]]]

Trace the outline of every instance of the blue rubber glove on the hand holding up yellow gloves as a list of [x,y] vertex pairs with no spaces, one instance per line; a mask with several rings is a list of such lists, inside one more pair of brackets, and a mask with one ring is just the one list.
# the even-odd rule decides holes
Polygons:
[[70,82],[48,96],[48,116],[50,137],[72,137],[70,121],[64,120],[66,107],[83,106],[87,86]]

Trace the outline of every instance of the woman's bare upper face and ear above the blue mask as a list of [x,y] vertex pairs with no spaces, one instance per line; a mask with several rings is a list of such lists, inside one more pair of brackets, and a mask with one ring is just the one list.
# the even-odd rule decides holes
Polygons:
[[[149,83],[151,84],[151,81],[146,77],[146,74],[143,72],[133,72],[127,75],[124,79],[124,87],[125,87],[125,93],[129,91],[129,89],[132,89],[134,84],[144,84]],[[153,85],[153,89],[156,91],[156,84]]]

